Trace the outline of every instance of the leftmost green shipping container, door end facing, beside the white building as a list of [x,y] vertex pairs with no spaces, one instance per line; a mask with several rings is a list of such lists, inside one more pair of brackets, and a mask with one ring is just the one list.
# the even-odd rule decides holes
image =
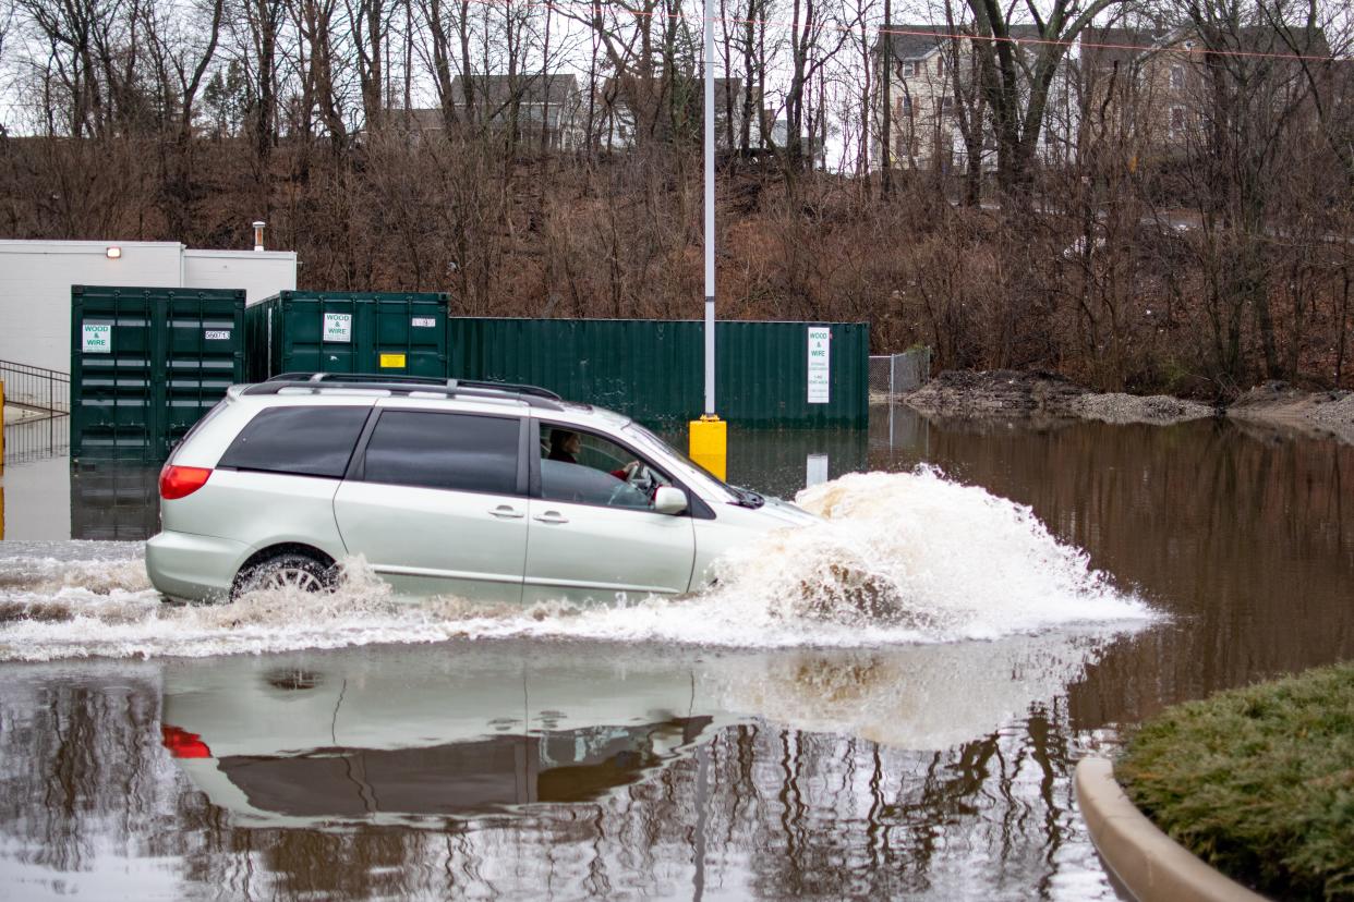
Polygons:
[[160,461],[245,380],[244,289],[70,288],[70,458]]

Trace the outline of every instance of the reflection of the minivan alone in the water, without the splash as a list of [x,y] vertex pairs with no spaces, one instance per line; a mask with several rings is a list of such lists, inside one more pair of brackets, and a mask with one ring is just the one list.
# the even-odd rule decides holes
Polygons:
[[728,721],[693,686],[680,661],[501,646],[172,661],[162,741],[240,824],[436,822],[645,779]]

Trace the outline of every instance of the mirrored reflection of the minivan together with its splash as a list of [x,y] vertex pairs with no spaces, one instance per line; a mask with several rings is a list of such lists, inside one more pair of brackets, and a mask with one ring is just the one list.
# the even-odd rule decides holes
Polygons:
[[1021,736],[1006,728],[1082,680],[1106,637],[718,652],[470,640],[171,659],[161,722],[179,767],[237,824],[427,825],[598,799],[741,723],[857,736],[925,771],[937,752]]

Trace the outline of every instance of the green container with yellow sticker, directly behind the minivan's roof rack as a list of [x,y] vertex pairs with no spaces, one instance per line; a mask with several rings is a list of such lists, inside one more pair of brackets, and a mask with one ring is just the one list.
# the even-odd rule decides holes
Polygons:
[[245,314],[249,379],[447,376],[447,295],[284,291]]

